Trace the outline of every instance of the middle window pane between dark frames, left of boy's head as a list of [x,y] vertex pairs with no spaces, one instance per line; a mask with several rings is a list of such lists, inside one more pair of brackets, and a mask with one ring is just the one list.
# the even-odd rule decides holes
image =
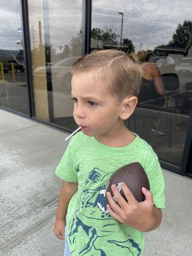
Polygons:
[[75,129],[71,66],[82,55],[82,1],[29,0],[35,116]]

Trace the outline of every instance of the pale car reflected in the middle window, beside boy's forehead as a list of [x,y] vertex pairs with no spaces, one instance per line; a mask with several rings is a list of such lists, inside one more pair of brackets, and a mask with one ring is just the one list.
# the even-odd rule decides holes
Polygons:
[[69,57],[54,65],[35,68],[33,71],[35,86],[41,87],[42,81],[45,81],[46,77],[48,86],[52,84],[54,91],[70,93],[70,81],[72,78],[71,67],[77,58],[79,57]]

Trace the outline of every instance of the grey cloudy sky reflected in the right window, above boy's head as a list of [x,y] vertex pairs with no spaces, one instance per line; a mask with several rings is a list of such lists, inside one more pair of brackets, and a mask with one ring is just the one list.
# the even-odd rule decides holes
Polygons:
[[136,51],[141,43],[145,49],[153,50],[168,44],[179,23],[191,20],[191,0],[93,0],[92,28],[111,28],[120,41],[122,15],[124,13],[123,38],[132,40]]

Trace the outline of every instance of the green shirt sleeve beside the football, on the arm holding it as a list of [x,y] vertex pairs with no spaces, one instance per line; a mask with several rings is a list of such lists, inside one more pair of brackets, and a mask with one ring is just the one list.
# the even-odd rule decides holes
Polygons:
[[150,183],[150,191],[153,195],[154,205],[157,208],[165,208],[164,197],[164,178],[161,166],[159,164],[157,156],[154,157],[154,161],[148,164],[148,180]]

